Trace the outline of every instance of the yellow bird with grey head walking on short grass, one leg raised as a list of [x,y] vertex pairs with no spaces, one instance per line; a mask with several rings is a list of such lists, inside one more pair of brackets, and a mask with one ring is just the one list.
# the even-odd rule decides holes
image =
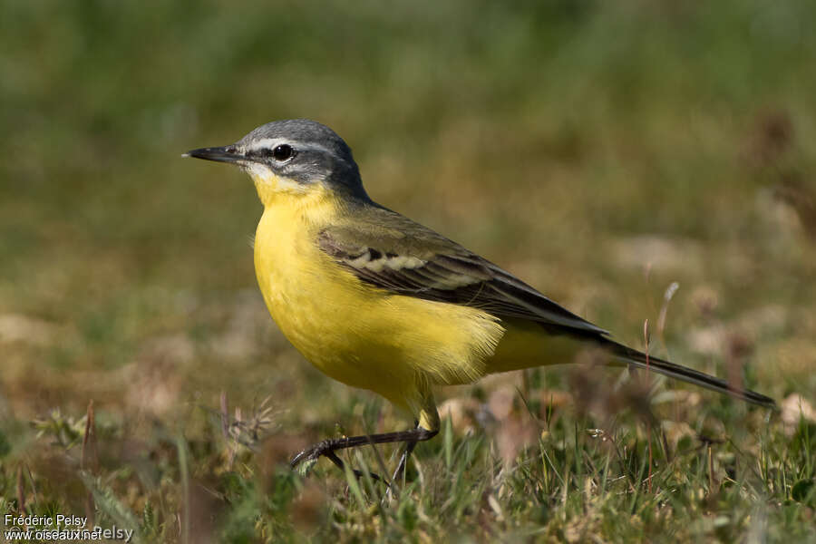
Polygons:
[[569,363],[588,347],[610,365],[775,406],[761,393],[618,343],[486,258],[377,204],[351,148],[317,121],[268,122],[235,143],[184,156],[236,165],[253,181],[264,207],[254,241],[257,283],[288,341],[329,377],[413,415],[408,430],[318,442],[295,455],[293,468],[325,457],[345,470],[340,450],[402,442],[396,481],[416,444],[440,430],[436,386]]

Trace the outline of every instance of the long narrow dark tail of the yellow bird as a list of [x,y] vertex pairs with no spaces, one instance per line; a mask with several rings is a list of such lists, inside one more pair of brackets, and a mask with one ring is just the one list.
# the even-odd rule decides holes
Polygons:
[[742,399],[746,403],[759,404],[766,408],[776,408],[776,402],[771,398],[761,393],[755,393],[749,389],[740,389],[733,384],[729,384],[721,378],[699,372],[680,364],[669,363],[663,359],[658,359],[649,355],[648,365],[646,364],[646,354],[643,354],[636,349],[627,347],[626,345],[618,344],[612,340],[604,339],[602,345],[607,348],[612,355],[622,361],[632,364],[638,368],[648,368],[652,372],[664,374],[670,378],[683,380],[689,384],[700,385],[706,389],[711,389],[718,393],[730,394],[733,397]]

